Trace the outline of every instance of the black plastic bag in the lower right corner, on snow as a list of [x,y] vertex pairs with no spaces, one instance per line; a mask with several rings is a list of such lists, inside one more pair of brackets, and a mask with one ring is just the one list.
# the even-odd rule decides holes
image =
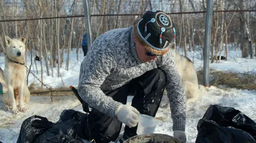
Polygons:
[[256,123],[232,107],[211,105],[197,124],[199,142],[256,142]]

